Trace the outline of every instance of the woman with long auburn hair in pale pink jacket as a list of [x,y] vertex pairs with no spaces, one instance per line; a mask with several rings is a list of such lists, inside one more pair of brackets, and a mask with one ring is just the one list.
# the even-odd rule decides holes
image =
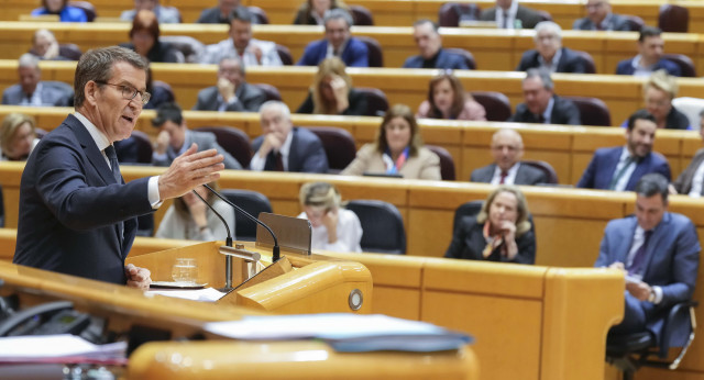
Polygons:
[[472,94],[464,92],[458,77],[446,72],[430,79],[428,100],[420,103],[416,118],[486,120],[486,111]]

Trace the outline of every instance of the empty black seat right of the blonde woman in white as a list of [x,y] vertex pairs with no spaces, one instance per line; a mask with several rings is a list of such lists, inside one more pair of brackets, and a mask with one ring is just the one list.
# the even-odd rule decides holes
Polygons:
[[404,220],[395,205],[377,200],[354,200],[346,209],[360,219],[363,252],[406,254]]

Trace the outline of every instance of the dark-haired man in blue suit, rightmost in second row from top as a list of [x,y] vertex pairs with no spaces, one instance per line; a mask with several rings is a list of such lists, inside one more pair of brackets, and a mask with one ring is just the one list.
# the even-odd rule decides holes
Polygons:
[[675,63],[662,58],[664,41],[661,34],[662,31],[658,27],[644,26],[638,36],[638,55],[619,62],[616,74],[647,77],[659,69],[666,69],[670,75],[682,76]]

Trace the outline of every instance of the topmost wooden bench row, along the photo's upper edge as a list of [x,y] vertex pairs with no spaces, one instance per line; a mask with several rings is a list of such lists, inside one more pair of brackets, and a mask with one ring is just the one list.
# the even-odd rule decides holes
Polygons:
[[[272,24],[290,24],[294,21],[296,11],[302,0],[242,0],[244,5],[262,8]],[[438,11],[447,0],[406,0],[405,5],[399,7],[398,0],[352,0],[348,4],[362,5],[369,9],[374,16],[374,22],[380,26],[407,26],[418,19],[438,20]],[[481,9],[494,7],[494,0],[475,0]],[[615,13],[632,14],[644,19],[648,25],[658,24],[658,14],[662,0],[614,0],[610,1]],[[122,11],[132,9],[134,2],[131,0],[91,0],[99,16],[119,18]],[[524,0],[521,4],[536,10],[549,12],[554,22],[562,29],[572,29],[574,20],[586,15],[585,1],[564,0]],[[668,1],[686,7],[690,11],[690,32],[704,32],[702,21],[704,21],[704,7],[695,1]],[[22,14],[30,12],[37,7],[34,2],[22,0],[2,0],[2,20],[16,21]],[[180,11],[184,22],[196,22],[200,12],[205,8],[215,7],[217,0],[161,0],[161,4],[176,7]]]

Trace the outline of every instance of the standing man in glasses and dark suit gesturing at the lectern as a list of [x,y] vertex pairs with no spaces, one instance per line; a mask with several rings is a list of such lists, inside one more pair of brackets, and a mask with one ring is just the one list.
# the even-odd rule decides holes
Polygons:
[[218,179],[223,166],[194,145],[162,175],[124,182],[112,143],[130,136],[148,101],[146,67],[118,46],[78,62],[76,112],[42,138],[22,174],[13,262],[148,288],[147,269],[124,266],[136,216]]

